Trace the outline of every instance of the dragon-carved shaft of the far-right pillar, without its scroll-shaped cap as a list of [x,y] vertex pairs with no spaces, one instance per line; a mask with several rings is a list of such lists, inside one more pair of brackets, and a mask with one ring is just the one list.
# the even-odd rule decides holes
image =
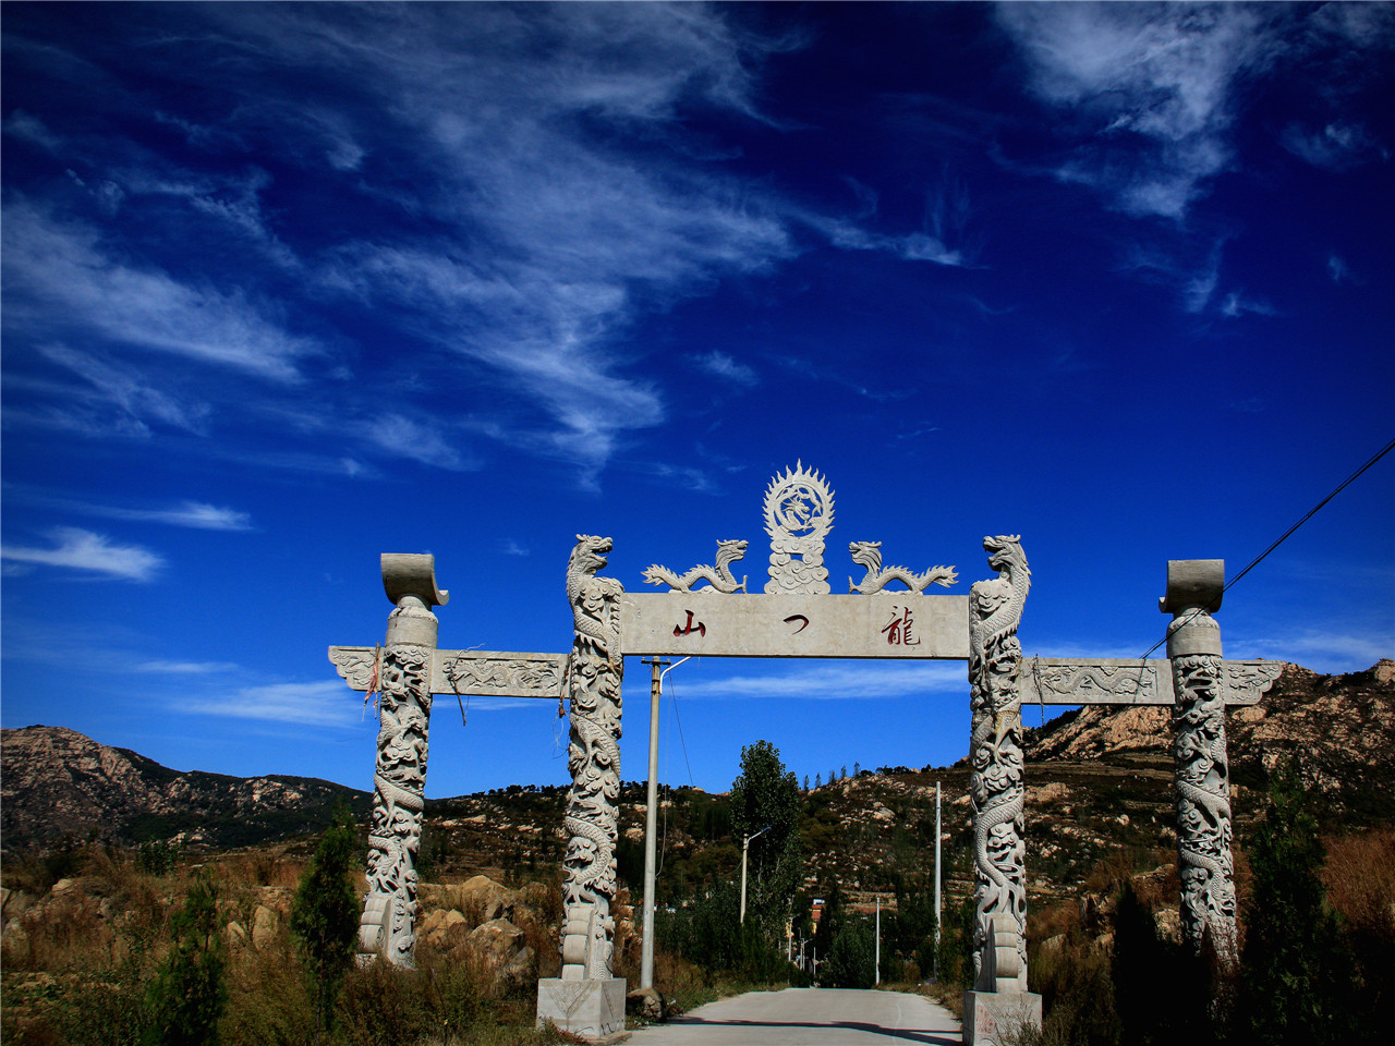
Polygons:
[[[1209,614],[1193,611],[1196,628]],[[1219,654],[1172,658],[1176,693],[1175,801],[1182,876],[1182,936],[1200,950],[1209,934],[1222,962],[1236,958],[1235,881],[1230,856],[1230,774]]]

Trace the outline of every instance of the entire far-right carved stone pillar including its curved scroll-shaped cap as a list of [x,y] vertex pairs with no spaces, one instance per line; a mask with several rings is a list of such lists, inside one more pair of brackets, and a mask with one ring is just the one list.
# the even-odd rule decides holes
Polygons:
[[1218,960],[1236,961],[1235,881],[1230,856],[1230,770],[1225,743],[1225,681],[1221,626],[1223,559],[1168,563],[1168,594],[1158,604],[1172,614],[1173,798],[1177,808],[1177,873],[1182,879],[1182,937],[1201,951],[1209,939]]

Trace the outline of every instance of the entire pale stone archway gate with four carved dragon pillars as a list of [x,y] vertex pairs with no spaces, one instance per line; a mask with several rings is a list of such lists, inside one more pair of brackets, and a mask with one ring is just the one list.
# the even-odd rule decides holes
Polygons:
[[[1222,961],[1233,962],[1225,707],[1257,703],[1282,664],[1222,660],[1212,616],[1225,583],[1222,561],[1168,563],[1168,590],[1159,601],[1173,615],[1166,661],[1024,657],[1017,626],[1031,572],[1017,536],[983,540],[996,576],[972,584],[968,596],[926,594],[932,584],[957,582],[953,566],[923,572],[883,566],[880,543],[854,541],[850,552],[866,575],[861,582],[850,577],[848,594],[836,596],[823,563],[833,491],[802,463],[771,480],[764,529],[770,565],[762,594],[749,593],[746,579],[738,583],[731,572],[746,541],[718,541],[714,565],[682,575],[649,568],[646,582],[668,591],[626,593],[618,580],[600,576],[611,540],[578,536],[566,569],[575,616],[569,654],[438,650],[431,608],[445,604],[448,593],[437,587],[432,556],[382,556],[384,589],[393,604],[384,644],[329,649],[329,660],[353,689],[379,693],[361,961],[381,955],[412,964],[432,695],[565,696],[571,702],[572,788],[565,821],[562,975],[538,982],[538,1022],[551,1020],[591,1040],[622,1032],[625,980],[611,972],[611,904],[624,658],[703,654],[968,661],[978,918],[975,983],[964,1001],[965,1042],[997,1043],[1024,1024],[1041,1022],[1041,996],[1027,987],[1023,703],[1173,707],[1183,934],[1198,950],[1209,940]],[[905,587],[890,590],[893,583]],[[650,862],[653,830],[650,809]],[[653,881],[651,867],[646,880]],[[646,937],[651,912],[653,895],[646,890]],[[651,941],[644,946],[651,955]],[[651,979],[651,964],[644,973]]]

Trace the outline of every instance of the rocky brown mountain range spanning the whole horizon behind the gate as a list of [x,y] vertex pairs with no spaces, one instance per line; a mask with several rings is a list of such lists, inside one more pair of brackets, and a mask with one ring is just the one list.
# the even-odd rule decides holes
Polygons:
[[[1032,708],[1024,710],[1030,724]],[[1327,801],[1334,828],[1395,824],[1395,661],[1366,672],[1315,675],[1288,665],[1260,706],[1228,717],[1232,803],[1242,845],[1264,806],[1267,771],[1300,755],[1307,780]],[[1137,870],[1175,861],[1172,727],[1166,708],[1091,707],[1028,729],[1028,874],[1038,897],[1078,897],[1102,866]],[[4,731],[3,831],[7,854],[27,841],[172,838],[211,847],[246,845],[311,831],[333,801],[349,798],[367,821],[370,796],[294,777],[233,778],[177,773],[134,752],[73,731]],[[970,888],[968,766],[882,767],[805,795],[806,887],[834,883],[857,902],[883,898],[897,883],[933,874],[935,785],[942,785],[946,890]],[[425,881],[484,873],[548,879],[561,861],[566,789],[512,785],[428,801],[421,847]],[[638,887],[643,870],[644,788],[618,796],[619,877]],[[730,881],[739,862],[724,795],[665,788],[660,891],[670,900]]]

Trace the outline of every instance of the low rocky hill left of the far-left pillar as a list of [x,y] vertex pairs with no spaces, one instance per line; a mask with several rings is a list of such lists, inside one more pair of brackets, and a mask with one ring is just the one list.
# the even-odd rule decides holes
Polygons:
[[0,731],[0,834],[7,856],[39,844],[183,840],[239,847],[329,823],[338,799],[370,796],[308,777],[180,773],[63,727]]

